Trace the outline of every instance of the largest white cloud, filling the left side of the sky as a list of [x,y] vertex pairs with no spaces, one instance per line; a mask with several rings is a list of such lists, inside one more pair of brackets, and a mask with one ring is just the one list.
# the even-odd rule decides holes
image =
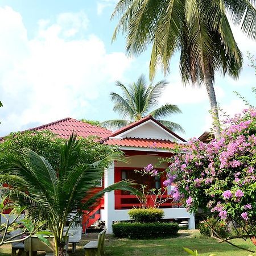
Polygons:
[[89,101],[130,65],[124,53],[107,53],[95,35],[70,38],[88,26],[84,13],[56,20],[40,20],[38,35],[29,40],[20,14],[0,8],[0,135],[86,115],[93,109]]

